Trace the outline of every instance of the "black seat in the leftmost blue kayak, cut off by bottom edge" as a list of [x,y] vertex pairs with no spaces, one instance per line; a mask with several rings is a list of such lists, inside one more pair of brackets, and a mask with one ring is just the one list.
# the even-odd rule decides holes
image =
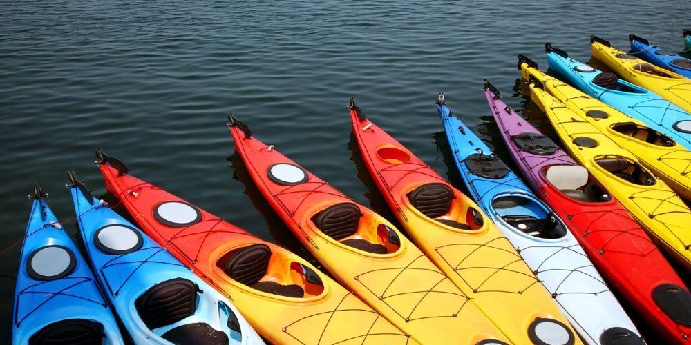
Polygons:
[[101,345],[106,337],[103,325],[87,319],[53,322],[29,339],[30,345]]

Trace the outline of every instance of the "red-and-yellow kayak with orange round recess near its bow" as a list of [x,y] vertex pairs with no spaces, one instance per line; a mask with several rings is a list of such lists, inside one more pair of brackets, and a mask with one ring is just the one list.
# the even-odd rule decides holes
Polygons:
[[377,188],[413,242],[513,344],[580,344],[545,287],[470,198],[367,119],[352,130]]

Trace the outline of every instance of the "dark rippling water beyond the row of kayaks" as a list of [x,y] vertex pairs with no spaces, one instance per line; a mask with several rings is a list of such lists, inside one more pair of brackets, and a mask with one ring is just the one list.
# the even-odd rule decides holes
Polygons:
[[[256,190],[245,193],[244,172],[231,168],[238,160],[227,112],[336,188],[382,208],[351,161],[351,95],[447,175],[433,137],[442,129],[439,90],[502,148],[491,137],[496,127],[485,126],[482,79],[522,108],[510,97],[519,52],[545,65],[542,45],[551,41],[587,60],[590,34],[625,47],[630,32],[681,49],[681,29],[691,26],[686,0],[0,3],[3,248],[23,234],[36,181],[64,219],[73,217],[66,170],[103,193],[93,165],[93,150],[103,148],[133,175],[299,250]],[[75,233],[73,221],[65,225]],[[18,256],[19,247],[0,256],[3,343]]]

